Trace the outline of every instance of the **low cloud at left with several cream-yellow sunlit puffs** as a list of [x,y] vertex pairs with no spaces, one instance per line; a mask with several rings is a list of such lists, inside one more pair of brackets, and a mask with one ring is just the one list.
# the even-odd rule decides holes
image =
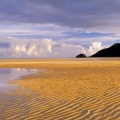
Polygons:
[[21,42],[17,38],[3,38],[0,41],[1,57],[45,57],[51,53],[51,39],[23,40]]

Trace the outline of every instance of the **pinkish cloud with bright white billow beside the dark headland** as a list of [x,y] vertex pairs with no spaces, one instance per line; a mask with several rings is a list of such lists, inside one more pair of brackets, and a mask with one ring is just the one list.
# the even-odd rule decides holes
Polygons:
[[54,53],[52,55],[53,57],[75,57],[76,55],[83,53],[90,56],[104,47],[105,46],[102,46],[101,42],[93,42],[88,46],[56,42],[52,47]]

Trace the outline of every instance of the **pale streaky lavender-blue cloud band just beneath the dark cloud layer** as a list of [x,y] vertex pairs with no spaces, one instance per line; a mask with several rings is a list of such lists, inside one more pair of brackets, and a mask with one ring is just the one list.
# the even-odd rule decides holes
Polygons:
[[[61,39],[88,39],[101,37],[114,38],[119,37],[115,33],[90,32],[81,28],[70,28],[54,24],[3,24],[0,23],[0,36],[12,36],[22,38],[51,38],[55,40]],[[74,40],[75,41],[75,40]]]

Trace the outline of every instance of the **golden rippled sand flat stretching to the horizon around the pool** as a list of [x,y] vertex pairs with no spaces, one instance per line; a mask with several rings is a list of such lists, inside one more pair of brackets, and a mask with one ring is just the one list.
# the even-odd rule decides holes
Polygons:
[[120,59],[8,59],[0,67],[42,69],[1,95],[3,120],[120,120]]

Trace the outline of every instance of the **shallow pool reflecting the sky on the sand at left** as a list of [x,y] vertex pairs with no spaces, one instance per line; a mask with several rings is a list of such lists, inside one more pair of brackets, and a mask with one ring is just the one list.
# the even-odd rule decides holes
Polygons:
[[37,71],[37,69],[0,68],[0,92],[16,87],[15,85],[9,84],[12,80],[19,80],[20,77],[37,73]]

